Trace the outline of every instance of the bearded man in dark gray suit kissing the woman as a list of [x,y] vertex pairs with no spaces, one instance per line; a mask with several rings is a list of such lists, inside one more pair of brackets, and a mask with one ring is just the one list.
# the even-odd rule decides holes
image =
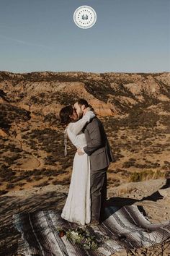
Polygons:
[[[84,99],[79,99],[74,108],[81,119],[86,114],[89,104]],[[84,127],[86,137],[86,147],[78,148],[79,155],[86,153],[89,155],[91,173],[91,225],[95,226],[104,221],[104,208],[107,200],[107,168],[113,161],[111,148],[104,132],[102,122],[97,118]]]

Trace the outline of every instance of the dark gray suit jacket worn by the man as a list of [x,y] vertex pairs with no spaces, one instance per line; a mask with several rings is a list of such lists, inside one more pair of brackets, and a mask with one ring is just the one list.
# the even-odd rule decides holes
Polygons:
[[114,158],[102,122],[96,116],[89,124],[86,124],[84,134],[87,142],[84,151],[89,155],[91,171],[97,171],[109,166],[109,163],[114,161]]

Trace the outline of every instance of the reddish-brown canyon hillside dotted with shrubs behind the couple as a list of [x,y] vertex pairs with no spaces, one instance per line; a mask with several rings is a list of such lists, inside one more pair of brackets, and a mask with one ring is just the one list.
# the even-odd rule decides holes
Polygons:
[[165,176],[170,167],[170,74],[0,72],[0,182],[9,190],[66,184],[62,106],[86,98],[102,120],[115,163],[108,186]]

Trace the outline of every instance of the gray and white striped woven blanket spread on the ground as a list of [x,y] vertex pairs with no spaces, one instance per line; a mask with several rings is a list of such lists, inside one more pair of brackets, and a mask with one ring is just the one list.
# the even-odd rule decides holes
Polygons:
[[58,235],[58,228],[76,229],[76,223],[61,218],[61,212],[45,210],[34,213],[17,213],[14,226],[22,234],[18,253],[36,256],[109,256],[121,249],[150,247],[170,237],[170,222],[153,224],[135,205],[105,209],[107,219],[97,227],[86,229],[98,238],[108,237],[96,250],[71,244],[66,236]]

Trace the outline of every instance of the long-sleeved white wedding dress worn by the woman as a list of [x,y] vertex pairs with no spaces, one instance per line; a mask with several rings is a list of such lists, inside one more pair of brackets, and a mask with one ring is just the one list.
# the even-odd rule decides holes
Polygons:
[[[65,132],[76,148],[86,146],[85,135],[81,130],[94,116],[92,111],[87,111],[82,119],[68,124]],[[71,184],[61,217],[83,226],[91,221],[90,162],[86,153],[76,153],[74,156]]]

